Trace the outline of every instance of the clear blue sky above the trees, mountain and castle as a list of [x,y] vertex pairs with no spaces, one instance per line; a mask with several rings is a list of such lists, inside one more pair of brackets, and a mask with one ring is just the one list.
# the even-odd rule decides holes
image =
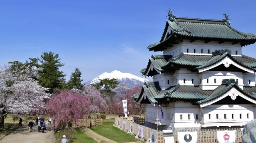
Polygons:
[[[248,0],[0,0],[0,65],[25,62],[45,51],[59,54],[70,78],[75,68],[83,82],[118,70],[140,77],[160,40],[167,11],[177,17],[221,20],[256,33],[256,1]],[[256,58],[256,44],[243,55]]]

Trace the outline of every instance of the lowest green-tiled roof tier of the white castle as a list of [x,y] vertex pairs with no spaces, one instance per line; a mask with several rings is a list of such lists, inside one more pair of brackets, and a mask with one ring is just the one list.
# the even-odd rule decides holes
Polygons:
[[[176,86],[172,86],[167,90],[161,91],[158,82],[145,82],[144,86],[142,86],[140,96],[136,99],[136,102],[141,101],[140,99],[146,96],[145,98],[148,99],[150,103],[156,103],[156,100],[158,100],[158,102],[161,104],[162,99],[169,99],[167,101],[179,99],[190,100],[194,104],[201,105],[206,102],[216,100],[231,89],[235,88],[240,94],[243,94],[239,96],[242,96],[246,100],[250,100],[250,102],[252,101],[256,103],[256,87],[244,87],[244,90],[242,90],[237,84],[238,82],[236,82],[234,79],[226,79],[223,80],[222,84],[215,90],[202,90],[200,86],[181,86],[180,84],[177,84]],[[142,95],[144,93],[145,95]]]

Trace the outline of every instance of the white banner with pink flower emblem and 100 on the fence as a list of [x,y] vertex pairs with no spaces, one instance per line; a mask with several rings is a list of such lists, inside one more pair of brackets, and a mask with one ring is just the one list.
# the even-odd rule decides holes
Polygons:
[[236,131],[217,131],[217,139],[220,143],[236,142]]

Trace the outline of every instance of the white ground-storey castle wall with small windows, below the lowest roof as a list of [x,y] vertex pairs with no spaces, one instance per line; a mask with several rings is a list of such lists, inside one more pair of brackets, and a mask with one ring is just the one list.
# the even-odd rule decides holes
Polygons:
[[[189,102],[174,102],[161,105],[164,112],[162,125],[175,128],[198,128],[220,126],[243,126],[255,118],[255,105],[209,105],[204,108]],[[156,106],[146,104],[146,121],[155,123],[157,118]],[[161,111],[158,107],[158,118]]]

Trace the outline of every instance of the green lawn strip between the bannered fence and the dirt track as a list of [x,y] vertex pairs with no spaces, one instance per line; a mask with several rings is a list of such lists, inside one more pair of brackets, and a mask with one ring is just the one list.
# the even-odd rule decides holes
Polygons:
[[104,119],[104,125],[91,127],[91,130],[99,135],[102,135],[108,139],[116,141],[118,143],[136,142],[138,139],[134,138],[134,135],[126,133],[117,127],[113,126],[115,119]]

